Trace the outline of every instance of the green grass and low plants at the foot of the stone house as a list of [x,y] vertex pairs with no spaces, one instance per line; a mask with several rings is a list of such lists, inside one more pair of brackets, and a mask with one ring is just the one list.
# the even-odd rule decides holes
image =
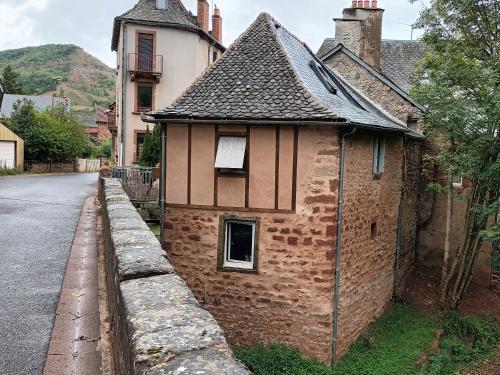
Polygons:
[[[432,343],[440,329],[444,335],[436,351]],[[255,375],[444,375],[491,356],[498,332],[491,322],[458,314],[438,321],[408,305],[394,305],[331,368],[277,344],[236,348],[235,354]],[[424,355],[427,363],[417,366]]]

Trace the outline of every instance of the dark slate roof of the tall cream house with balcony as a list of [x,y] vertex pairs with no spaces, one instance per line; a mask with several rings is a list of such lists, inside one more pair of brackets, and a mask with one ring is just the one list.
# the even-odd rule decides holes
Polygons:
[[118,48],[120,22],[122,20],[194,31],[214,42],[218,48],[224,49],[224,47],[209,33],[200,28],[196,16],[193,16],[193,14],[184,7],[181,0],[167,0],[166,4],[166,9],[157,9],[156,0],[139,0],[132,9],[116,17],[113,26],[111,49],[116,51]]

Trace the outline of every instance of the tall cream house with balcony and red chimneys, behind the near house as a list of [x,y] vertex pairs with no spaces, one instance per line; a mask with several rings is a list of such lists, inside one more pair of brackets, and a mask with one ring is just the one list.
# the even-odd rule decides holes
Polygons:
[[116,125],[118,164],[139,160],[146,125],[141,112],[165,108],[224,51],[219,9],[209,31],[208,0],[198,13],[181,0],[139,0],[114,20],[111,49],[117,54]]

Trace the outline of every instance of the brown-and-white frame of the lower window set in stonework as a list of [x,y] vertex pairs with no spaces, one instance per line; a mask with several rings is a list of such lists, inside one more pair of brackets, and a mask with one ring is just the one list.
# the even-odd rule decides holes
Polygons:
[[[243,262],[228,260],[229,257],[229,223],[252,225],[252,261]],[[217,256],[217,269],[221,272],[241,272],[258,273],[259,260],[259,237],[260,237],[260,219],[236,216],[221,216],[219,223],[219,249]]]

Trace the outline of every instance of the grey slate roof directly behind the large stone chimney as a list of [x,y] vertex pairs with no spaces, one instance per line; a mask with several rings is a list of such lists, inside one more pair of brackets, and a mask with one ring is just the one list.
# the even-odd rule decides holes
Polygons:
[[[334,38],[327,38],[316,55],[322,58],[336,45]],[[419,40],[382,40],[381,48],[380,71],[408,92],[415,63],[424,57],[428,47]]]

